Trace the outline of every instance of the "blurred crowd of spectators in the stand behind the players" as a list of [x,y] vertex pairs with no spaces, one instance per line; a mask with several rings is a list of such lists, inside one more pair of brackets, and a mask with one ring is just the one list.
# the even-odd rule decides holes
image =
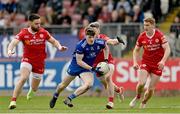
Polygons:
[[[90,22],[162,22],[180,0],[0,0],[0,27],[21,27],[30,13],[38,13],[42,25],[75,26]],[[180,23],[180,12],[174,19]]]

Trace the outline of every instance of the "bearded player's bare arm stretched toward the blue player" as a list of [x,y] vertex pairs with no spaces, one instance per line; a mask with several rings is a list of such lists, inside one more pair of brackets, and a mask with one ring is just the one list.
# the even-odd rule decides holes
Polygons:
[[55,38],[52,36],[48,39],[48,42],[53,44],[58,50],[60,51],[66,51],[68,48],[66,46],[62,46],[59,41],[57,41]]

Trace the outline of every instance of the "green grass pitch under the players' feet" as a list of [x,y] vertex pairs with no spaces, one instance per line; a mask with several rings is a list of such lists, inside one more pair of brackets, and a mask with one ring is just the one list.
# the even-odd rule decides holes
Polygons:
[[112,114],[112,113],[180,113],[180,97],[153,97],[147,104],[146,109],[139,109],[138,105],[131,109],[129,102],[132,98],[126,98],[124,102],[115,99],[114,109],[108,110],[105,108],[107,98],[105,97],[79,97],[73,100],[74,107],[69,108],[63,104],[63,99],[58,99],[56,106],[53,109],[49,108],[50,96],[35,96],[30,101],[26,97],[20,97],[17,101],[17,108],[9,110],[8,105],[10,97],[0,96],[0,114],[69,114],[69,113],[89,113],[89,114]]

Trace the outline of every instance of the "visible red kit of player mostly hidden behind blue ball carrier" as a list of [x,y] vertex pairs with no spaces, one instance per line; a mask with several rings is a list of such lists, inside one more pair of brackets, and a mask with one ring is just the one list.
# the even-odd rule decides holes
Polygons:
[[[99,34],[98,38],[104,39],[105,41],[107,41],[109,39],[108,36],[106,36],[105,34]],[[103,50],[101,50],[101,52],[96,56],[96,59],[94,61],[94,66],[96,66],[99,62],[104,61],[104,52]],[[109,57],[108,57],[108,62],[114,64],[114,59],[112,57],[112,54],[109,51]]]

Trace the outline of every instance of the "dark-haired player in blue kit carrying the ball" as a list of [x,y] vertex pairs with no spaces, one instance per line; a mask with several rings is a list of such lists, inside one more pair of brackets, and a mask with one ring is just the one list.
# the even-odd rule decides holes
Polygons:
[[105,59],[108,59],[109,50],[105,40],[96,38],[96,33],[94,28],[87,27],[85,29],[86,38],[81,40],[75,49],[73,58],[69,68],[67,70],[67,76],[62,80],[62,82],[57,86],[56,92],[50,101],[50,108],[55,106],[56,100],[59,94],[66,88],[76,76],[79,76],[83,85],[75,90],[75,92],[69,95],[65,100],[64,104],[73,107],[72,99],[82,95],[88,91],[94,82],[93,72],[102,75],[103,72],[99,71],[99,68],[92,67],[96,56],[101,50],[104,51]]

